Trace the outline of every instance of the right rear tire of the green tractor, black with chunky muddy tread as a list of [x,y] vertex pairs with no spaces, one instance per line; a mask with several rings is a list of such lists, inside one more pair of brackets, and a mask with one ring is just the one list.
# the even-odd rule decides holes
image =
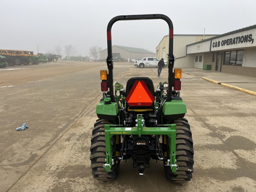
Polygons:
[[[170,166],[165,166],[167,162],[164,161],[165,176],[167,180],[171,180],[175,183],[190,181],[192,178],[194,164],[192,132],[190,131],[188,120],[185,118],[174,120],[173,123],[176,124],[176,164],[179,168],[176,173],[173,173]],[[168,137],[168,156],[170,156],[169,144],[170,139]]]

